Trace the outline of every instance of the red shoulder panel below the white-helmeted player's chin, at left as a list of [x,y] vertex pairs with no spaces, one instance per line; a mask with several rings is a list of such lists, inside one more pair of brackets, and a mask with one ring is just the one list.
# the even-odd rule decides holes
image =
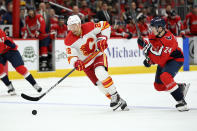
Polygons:
[[71,46],[73,43],[75,43],[79,37],[73,35],[73,33],[70,31],[66,38],[64,39],[64,44],[67,46]]

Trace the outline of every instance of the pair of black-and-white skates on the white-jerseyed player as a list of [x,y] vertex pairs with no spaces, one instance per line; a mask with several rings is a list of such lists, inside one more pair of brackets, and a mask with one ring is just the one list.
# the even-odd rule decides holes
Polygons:
[[117,110],[119,107],[121,110],[129,110],[127,108],[126,101],[123,100],[117,92],[111,95],[110,107],[113,109],[113,111]]

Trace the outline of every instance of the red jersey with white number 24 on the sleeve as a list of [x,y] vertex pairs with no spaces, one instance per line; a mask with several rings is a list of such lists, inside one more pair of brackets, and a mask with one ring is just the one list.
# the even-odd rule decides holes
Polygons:
[[163,37],[157,37],[153,34],[149,35],[149,42],[152,45],[148,53],[148,57],[155,64],[163,67],[167,61],[184,61],[183,52],[178,47],[176,37],[168,30]]

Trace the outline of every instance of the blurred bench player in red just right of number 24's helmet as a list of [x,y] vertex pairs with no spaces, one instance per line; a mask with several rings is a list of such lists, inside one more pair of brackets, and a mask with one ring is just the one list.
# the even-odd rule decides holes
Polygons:
[[175,10],[171,10],[168,13],[168,17],[165,17],[166,21],[166,28],[169,29],[175,36],[182,35],[184,36],[184,27],[183,23],[181,22],[181,17],[178,16]]

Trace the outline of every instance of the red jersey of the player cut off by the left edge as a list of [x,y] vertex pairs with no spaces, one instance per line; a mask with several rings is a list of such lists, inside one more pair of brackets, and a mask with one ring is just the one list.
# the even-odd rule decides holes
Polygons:
[[4,54],[9,50],[17,50],[17,45],[0,29],[0,54]]

